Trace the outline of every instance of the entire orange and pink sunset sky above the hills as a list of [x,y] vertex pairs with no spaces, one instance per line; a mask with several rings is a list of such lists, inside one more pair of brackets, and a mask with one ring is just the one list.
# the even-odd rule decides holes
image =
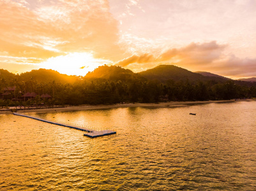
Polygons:
[[255,0],[0,0],[0,68],[256,76]]

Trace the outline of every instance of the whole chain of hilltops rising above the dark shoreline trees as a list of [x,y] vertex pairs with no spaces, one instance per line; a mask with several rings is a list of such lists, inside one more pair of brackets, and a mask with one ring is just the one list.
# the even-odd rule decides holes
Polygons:
[[[152,69],[147,69],[140,73],[133,73],[130,69],[124,69],[119,66],[99,66],[94,69],[94,71],[87,73],[84,76],[85,80],[93,79],[105,79],[114,81],[127,81],[127,80],[158,80],[160,82],[166,82],[167,80],[174,81],[217,81],[223,83],[227,80],[232,80],[230,78],[225,78],[218,74],[208,73],[206,71],[197,71],[193,73],[182,67],[177,67],[174,65],[160,65]],[[38,69],[32,70],[30,72],[13,74],[7,70],[0,69],[0,80],[2,83],[11,84],[13,81],[29,81],[33,80],[38,83],[47,83],[56,81],[59,83],[73,83],[79,80],[78,76],[68,76],[66,74],[60,74],[52,69]],[[237,84],[245,85],[255,83],[256,78],[242,78],[235,80]]]

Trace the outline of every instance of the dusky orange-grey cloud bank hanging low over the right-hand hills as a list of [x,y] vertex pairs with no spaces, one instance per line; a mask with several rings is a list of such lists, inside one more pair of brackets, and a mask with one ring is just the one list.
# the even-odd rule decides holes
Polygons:
[[256,76],[256,59],[226,55],[224,52],[227,47],[228,45],[219,45],[216,41],[190,43],[181,48],[170,48],[159,55],[132,55],[116,65],[139,72],[159,64],[174,64],[191,71],[204,70],[231,78]]

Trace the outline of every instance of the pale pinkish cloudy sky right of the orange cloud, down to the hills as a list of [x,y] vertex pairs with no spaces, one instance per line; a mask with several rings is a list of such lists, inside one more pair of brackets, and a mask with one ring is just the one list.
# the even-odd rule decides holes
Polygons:
[[[122,21],[121,43],[130,53],[117,65],[134,71],[161,63],[176,64],[192,71],[215,72],[218,67],[229,75],[235,74],[232,66],[245,66],[236,73],[251,72],[246,72],[246,67],[250,68],[255,60],[256,1],[111,2],[114,17]],[[139,10],[138,5],[147,14]],[[139,62],[145,53],[147,57],[151,55],[151,59]],[[232,54],[238,60],[231,59]],[[244,64],[239,66],[236,62]]]

